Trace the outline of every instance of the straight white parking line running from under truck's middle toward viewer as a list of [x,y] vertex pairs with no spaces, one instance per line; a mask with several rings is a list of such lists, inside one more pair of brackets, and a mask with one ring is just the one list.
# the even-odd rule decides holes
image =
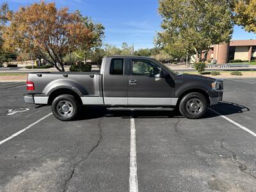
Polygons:
[[137,162],[136,162],[136,129],[134,118],[131,118],[131,145],[130,145],[130,192],[138,192]]

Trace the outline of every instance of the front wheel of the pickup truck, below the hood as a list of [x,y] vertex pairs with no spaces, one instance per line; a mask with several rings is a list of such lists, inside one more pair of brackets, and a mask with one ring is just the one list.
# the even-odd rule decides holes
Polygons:
[[179,110],[186,118],[200,118],[207,111],[207,100],[201,93],[188,93],[180,100]]

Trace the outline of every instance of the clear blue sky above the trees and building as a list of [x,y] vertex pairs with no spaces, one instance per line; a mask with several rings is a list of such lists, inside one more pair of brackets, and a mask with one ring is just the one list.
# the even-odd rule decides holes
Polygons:
[[[40,2],[37,0],[0,0],[7,2],[10,10]],[[51,2],[51,1],[47,1]],[[105,27],[104,43],[121,47],[123,42],[134,44],[135,49],[154,47],[156,31],[161,30],[161,17],[157,0],[55,0],[56,6],[66,6],[70,12],[80,10]],[[256,35],[234,27],[234,40],[255,39]]]

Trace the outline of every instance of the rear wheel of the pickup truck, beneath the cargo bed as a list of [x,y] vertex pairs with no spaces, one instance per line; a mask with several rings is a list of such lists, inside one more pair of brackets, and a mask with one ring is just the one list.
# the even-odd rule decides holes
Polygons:
[[61,121],[74,120],[81,108],[81,104],[73,95],[60,95],[52,101],[52,113]]

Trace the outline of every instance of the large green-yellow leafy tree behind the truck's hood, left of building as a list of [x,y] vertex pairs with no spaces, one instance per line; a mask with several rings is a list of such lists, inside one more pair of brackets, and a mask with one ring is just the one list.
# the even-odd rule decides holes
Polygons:
[[222,0],[159,0],[163,31],[156,44],[177,58],[196,54],[198,61],[205,60],[211,45],[232,37],[229,6]]

